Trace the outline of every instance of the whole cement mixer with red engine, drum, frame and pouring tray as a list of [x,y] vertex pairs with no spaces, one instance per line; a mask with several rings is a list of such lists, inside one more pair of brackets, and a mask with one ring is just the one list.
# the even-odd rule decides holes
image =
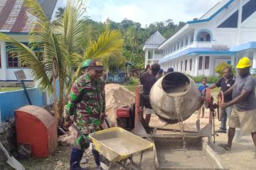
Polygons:
[[[117,108],[117,125],[154,142],[155,169],[226,169],[215,154],[225,152],[215,145],[214,117],[222,100],[213,103],[210,89],[201,96],[194,81],[180,72],[171,72],[156,81],[149,101],[156,115],[166,122],[159,126],[145,125],[142,94],[143,86],[139,85],[134,105]],[[191,117],[204,101],[210,110],[208,124],[184,130],[182,120]],[[174,123],[179,123],[180,128],[169,125]]]

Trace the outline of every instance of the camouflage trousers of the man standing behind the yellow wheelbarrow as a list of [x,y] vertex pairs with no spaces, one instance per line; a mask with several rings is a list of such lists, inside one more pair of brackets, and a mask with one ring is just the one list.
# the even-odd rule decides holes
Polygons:
[[92,132],[97,132],[102,130],[100,125],[95,125],[93,123],[85,124],[85,125],[77,125],[78,129],[80,130],[78,137],[75,140],[74,147],[78,149],[87,149],[90,147],[90,137],[89,134]]

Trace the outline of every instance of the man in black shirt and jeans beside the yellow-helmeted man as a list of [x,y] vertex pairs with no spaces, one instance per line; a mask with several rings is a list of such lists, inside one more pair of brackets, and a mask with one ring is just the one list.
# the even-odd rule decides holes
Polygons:
[[[223,69],[223,75],[224,77],[221,78],[217,83],[210,86],[210,89],[214,89],[215,87],[220,87],[220,90],[227,91],[233,84],[235,84],[235,79],[232,74],[232,70],[230,68]],[[224,102],[227,103],[229,101],[232,101],[232,94],[229,94],[224,97]],[[233,106],[229,106],[228,108],[225,108],[224,110],[220,109],[222,111],[222,118],[221,118],[221,125],[220,129],[216,132],[226,132],[226,122],[227,118],[230,118],[230,113],[232,111]]]

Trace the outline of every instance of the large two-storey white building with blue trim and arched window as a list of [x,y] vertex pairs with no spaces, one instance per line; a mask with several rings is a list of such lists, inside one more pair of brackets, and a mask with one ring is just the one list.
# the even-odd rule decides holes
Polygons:
[[[145,64],[151,58],[146,42]],[[157,50],[163,54],[155,62],[164,71],[173,67],[193,76],[212,76],[220,62],[235,66],[244,56],[256,68],[256,0],[220,1],[201,18],[188,21],[171,38],[159,42]]]

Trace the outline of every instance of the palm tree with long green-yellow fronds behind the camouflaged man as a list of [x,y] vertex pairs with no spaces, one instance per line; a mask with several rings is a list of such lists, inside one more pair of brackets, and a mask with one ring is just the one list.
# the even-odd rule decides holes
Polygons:
[[[24,3],[29,12],[38,18],[29,34],[28,46],[3,33],[0,33],[0,40],[12,43],[12,51],[19,52],[21,64],[28,64],[34,80],[39,81],[41,90],[48,91],[54,94],[53,96],[56,96],[53,86],[53,60],[57,61],[60,93],[58,104],[57,99],[55,100],[55,115],[60,118],[68,96],[67,91],[80,72],[81,61],[87,58],[109,57],[122,50],[123,40],[118,31],[105,31],[97,41],[84,49],[81,44],[86,30],[82,29],[82,17],[86,8],[81,0],[68,1],[63,17],[58,19],[57,25],[48,21],[37,0],[24,0]],[[36,48],[43,50],[43,55],[36,55]],[[73,68],[78,68],[75,75]]]

